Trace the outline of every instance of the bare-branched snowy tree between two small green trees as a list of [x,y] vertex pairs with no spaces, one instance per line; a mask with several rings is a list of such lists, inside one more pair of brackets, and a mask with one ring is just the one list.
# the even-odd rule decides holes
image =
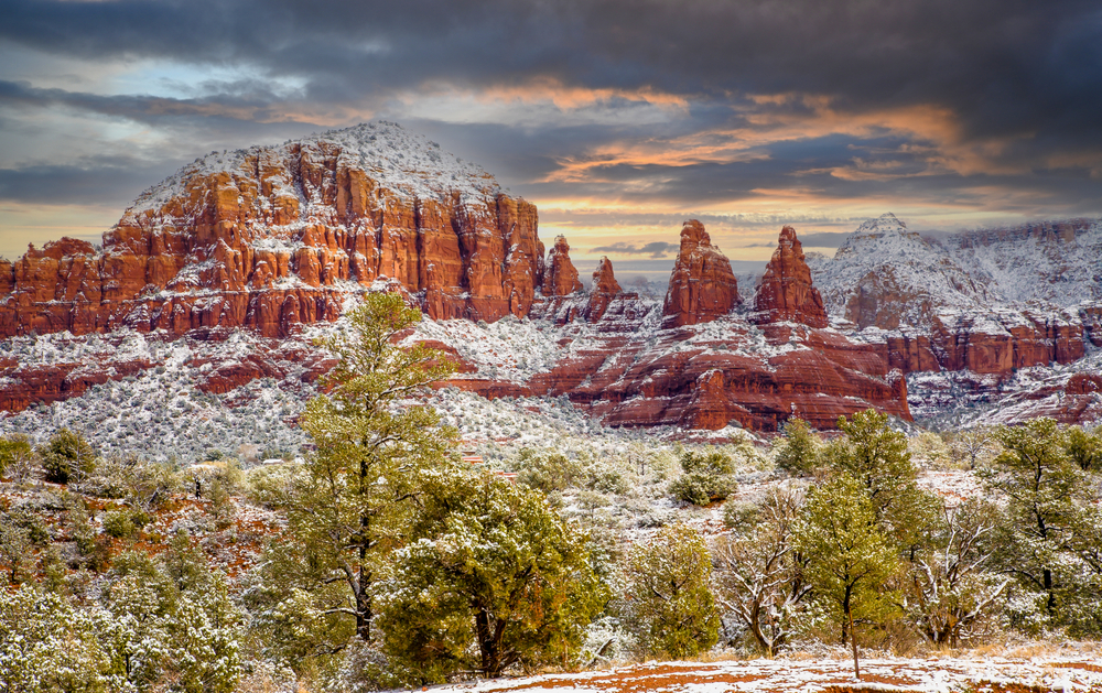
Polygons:
[[[738,512],[730,534],[716,540],[713,581],[720,603],[773,657],[792,637],[796,616],[810,593],[807,559],[792,548],[802,497],[771,490]],[[730,505],[730,501],[728,501]],[[735,512],[730,513],[735,519]]]

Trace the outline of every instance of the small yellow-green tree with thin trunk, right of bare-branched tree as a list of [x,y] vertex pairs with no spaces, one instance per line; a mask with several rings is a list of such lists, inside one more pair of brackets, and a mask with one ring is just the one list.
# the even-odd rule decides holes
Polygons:
[[865,486],[847,474],[839,474],[812,487],[792,544],[810,557],[808,582],[841,617],[842,643],[849,634],[853,672],[860,679],[854,624],[880,622],[894,610],[883,585],[898,567],[896,552],[879,531]]

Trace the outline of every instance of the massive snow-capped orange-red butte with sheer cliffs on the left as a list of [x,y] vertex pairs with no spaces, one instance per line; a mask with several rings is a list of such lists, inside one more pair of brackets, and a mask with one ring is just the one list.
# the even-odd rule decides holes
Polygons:
[[542,273],[536,207],[397,124],[212,153],[104,236],[0,266],[0,336],[198,327],[284,336],[375,285],[435,318],[522,316]]

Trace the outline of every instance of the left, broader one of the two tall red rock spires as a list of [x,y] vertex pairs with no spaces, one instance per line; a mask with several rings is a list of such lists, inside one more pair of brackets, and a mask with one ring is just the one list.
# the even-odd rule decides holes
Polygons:
[[681,228],[681,250],[670,274],[662,315],[670,325],[707,323],[741,303],[731,262],[712,246],[704,225],[695,219]]

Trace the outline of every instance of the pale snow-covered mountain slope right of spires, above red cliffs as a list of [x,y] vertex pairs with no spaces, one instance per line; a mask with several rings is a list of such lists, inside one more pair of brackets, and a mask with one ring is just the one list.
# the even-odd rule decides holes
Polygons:
[[934,315],[1057,310],[1102,299],[1102,224],[1045,223],[928,240],[893,214],[862,224],[833,258],[809,256],[832,317],[858,328],[926,327]]

